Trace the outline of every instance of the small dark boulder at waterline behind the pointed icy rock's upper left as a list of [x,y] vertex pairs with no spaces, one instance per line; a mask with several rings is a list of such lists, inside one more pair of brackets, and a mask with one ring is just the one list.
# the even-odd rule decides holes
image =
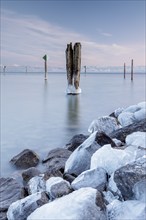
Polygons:
[[66,144],[65,148],[74,151],[78,146],[80,146],[87,138],[89,135],[84,135],[84,134],[77,134],[73,136],[73,138],[69,141],[69,143]]

